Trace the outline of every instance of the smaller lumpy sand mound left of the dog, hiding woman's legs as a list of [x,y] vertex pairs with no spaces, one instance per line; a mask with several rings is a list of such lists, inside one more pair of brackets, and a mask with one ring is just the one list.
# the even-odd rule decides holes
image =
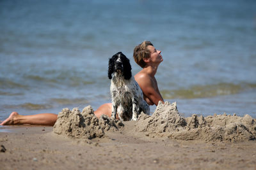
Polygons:
[[93,112],[91,106],[87,106],[82,112],[78,108],[72,111],[65,108],[58,114],[53,131],[72,138],[92,139],[105,136],[104,131],[116,131],[118,127],[124,126],[121,121],[113,120],[106,115],[97,118]]

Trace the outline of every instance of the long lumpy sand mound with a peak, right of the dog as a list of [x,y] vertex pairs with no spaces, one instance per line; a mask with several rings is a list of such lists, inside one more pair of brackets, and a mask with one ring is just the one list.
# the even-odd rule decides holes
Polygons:
[[245,115],[214,115],[202,117],[179,115],[176,103],[159,103],[151,117],[141,114],[135,130],[152,138],[168,137],[182,140],[247,141],[256,139],[256,123]]

